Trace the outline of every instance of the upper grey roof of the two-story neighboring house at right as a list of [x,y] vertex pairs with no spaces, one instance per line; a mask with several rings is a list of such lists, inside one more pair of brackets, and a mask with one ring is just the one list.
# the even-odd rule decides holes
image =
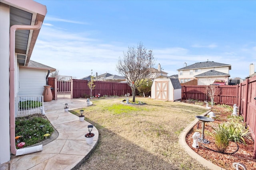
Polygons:
[[178,70],[190,70],[190,69],[197,69],[197,68],[211,68],[211,67],[223,67],[223,66],[228,66],[229,70],[231,70],[230,64],[216,63],[214,61],[199,62],[199,63],[191,64],[186,67],[182,67]]

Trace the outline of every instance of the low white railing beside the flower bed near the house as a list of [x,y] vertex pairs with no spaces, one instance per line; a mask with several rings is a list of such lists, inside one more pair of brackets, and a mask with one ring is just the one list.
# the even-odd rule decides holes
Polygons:
[[44,115],[44,96],[17,96],[17,116]]

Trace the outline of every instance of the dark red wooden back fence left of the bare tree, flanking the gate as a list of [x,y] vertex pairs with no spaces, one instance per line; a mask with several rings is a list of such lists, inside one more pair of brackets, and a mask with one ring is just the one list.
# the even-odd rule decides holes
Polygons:
[[[54,81],[55,78],[48,78],[48,83],[52,86],[52,94],[54,94],[55,90]],[[88,80],[73,79],[73,98],[90,96],[91,91],[87,84]],[[124,96],[127,93],[132,94],[132,89],[127,83],[95,81],[94,85],[95,88],[92,90],[93,96],[96,96],[97,94],[100,94],[100,96]],[[54,98],[55,96],[53,95],[53,99]]]

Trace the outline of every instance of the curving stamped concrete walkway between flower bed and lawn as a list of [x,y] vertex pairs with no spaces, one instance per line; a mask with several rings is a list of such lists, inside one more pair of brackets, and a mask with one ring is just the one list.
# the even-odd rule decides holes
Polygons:
[[[10,170],[70,170],[80,166],[98,143],[98,130],[94,127],[95,134],[92,144],[86,144],[84,135],[88,133],[87,121],[79,121],[79,117],[65,112],[65,104],[69,109],[78,109],[92,105],[85,99],[65,99],[44,102],[45,115],[58,131],[54,133],[51,140],[43,145],[43,150],[31,154],[12,156],[8,166]],[[84,109],[86,116],[86,109]],[[55,136],[55,137],[54,137]],[[47,141],[46,141],[47,142]],[[1,167],[1,170],[8,167]]]

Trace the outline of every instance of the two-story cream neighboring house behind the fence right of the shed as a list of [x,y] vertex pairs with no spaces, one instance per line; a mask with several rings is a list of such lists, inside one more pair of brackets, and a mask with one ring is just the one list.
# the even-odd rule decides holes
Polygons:
[[178,79],[180,83],[198,79],[197,85],[209,85],[216,79],[225,80],[228,85],[230,77],[230,64],[216,63],[214,61],[199,62],[178,69]]

